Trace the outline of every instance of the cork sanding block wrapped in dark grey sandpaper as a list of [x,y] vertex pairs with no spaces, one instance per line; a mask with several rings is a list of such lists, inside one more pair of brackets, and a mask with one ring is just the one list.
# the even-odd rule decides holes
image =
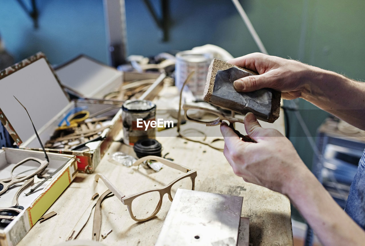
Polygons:
[[219,59],[209,66],[204,101],[239,114],[252,112],[257,119],[273,123],[280,114],[281,92],[263,88],[253,92],[237,92],[233,81],[257,75]]

